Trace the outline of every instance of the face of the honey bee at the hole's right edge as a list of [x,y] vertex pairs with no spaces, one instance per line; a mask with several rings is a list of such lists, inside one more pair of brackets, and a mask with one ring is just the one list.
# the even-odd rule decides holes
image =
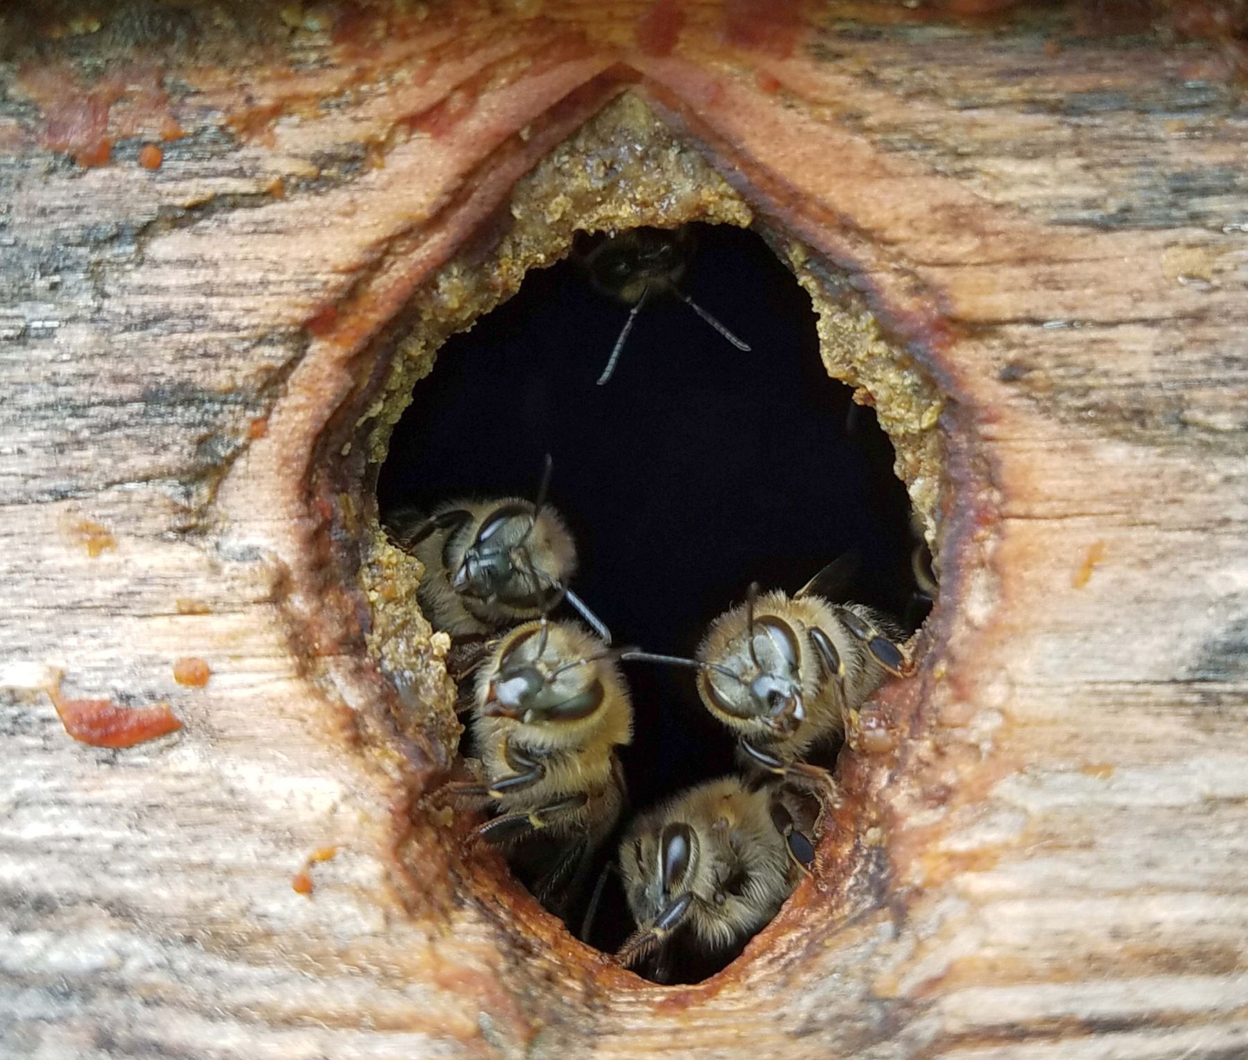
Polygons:
[[715,658],[699,653],[716,668],[699,673],[698,690],[711,712],[725,715],[735,728],[787,735],[806,717],[799,634],[773,614],[756,617],[753,628],[740,616],[723,621],[738,618],[741,628]]

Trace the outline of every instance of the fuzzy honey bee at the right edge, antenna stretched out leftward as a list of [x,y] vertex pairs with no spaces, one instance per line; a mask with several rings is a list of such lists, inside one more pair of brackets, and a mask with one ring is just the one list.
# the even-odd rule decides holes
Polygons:
[[834,604],[819,594],[832,563],[800,592],[759,596],[716,618],[698,648],[681,659],[628,650],[624,660],[691,667],[706,709],[731,729],[745,760],[781,777],[830,783],[805,762],[820,743],[844,734],[845,718],[880,685],[885,674],[914,667],[895,640],[892,624],[862,604]]

